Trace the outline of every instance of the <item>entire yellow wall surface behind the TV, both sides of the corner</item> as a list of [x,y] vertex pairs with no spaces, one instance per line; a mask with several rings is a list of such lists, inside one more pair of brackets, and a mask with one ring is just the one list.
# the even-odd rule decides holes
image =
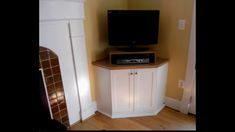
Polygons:
[[[85,33],[91,79],[91,95],[95,100],[92,61],[105,57],[107,44],[107,9],[159,9],[159,44],[157,56],[169,58],[168,97],[181,100],[183,90],[178,80],[185,79],[193,0],[86,0]],[[178,30],[178,19],[186,20],[184,31]]]

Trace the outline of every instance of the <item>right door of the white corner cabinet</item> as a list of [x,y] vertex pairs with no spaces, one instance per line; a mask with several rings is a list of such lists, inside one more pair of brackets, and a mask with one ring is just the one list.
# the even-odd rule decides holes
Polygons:
[[151,69],[137,69],[134,74],[134,111],[151,111],[155,102],[155,72]]

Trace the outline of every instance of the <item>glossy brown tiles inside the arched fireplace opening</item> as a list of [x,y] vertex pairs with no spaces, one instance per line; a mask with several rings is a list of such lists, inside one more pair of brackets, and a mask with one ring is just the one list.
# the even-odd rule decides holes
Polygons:
[[58,56],[46,47],[39,47],[40,67],[43,70],[45,85],[53,119],[69,127],[67,105]]

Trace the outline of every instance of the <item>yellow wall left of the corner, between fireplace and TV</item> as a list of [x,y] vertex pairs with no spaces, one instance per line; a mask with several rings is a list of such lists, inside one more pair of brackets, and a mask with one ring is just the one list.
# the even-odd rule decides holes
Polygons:
[[127,9],[126,0],[86,0],[85,35],[88,67],[91,84],[91,97],[95,100],[94,69],[92,61],[105,57],[107,43],[107,10]]

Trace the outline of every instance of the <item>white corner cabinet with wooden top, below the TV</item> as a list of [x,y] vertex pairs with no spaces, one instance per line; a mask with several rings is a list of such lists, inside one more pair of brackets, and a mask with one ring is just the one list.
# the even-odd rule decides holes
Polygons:
[[146,67],[93,64],[99,112],[123,118],[156,115],[164,108],[167,61]]

